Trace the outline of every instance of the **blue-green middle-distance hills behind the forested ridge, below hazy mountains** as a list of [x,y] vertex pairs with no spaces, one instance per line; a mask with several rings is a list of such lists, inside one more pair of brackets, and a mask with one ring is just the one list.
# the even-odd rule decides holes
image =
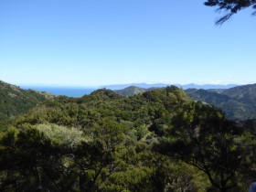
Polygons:
[[[131,86],[115,92],[127,97],[152,89],[157,88],[144,89]],[[229,89],[187,89],[185,91],[194,101],[203,101],[220,108],[229,119],[256,119],[256,84]]]

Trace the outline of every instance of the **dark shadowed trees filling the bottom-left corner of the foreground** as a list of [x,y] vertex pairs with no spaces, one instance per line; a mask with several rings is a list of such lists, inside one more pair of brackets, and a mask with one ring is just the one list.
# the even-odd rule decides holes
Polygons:
[[[112,158],[101,144],[54,144],[37,129],[8,132],[1,140],[1,191],[80,191],[95,188]],[[88,178],[84,180],[85,176]]]

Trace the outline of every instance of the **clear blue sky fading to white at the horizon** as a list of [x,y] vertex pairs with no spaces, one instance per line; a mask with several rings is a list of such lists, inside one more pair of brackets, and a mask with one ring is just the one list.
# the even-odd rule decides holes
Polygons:
[[1,0],[0,80],[255,83],[256,16],[203,0]]

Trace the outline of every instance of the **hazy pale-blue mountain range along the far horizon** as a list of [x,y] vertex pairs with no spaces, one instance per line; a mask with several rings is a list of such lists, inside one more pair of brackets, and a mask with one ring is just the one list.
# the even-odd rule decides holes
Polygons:
[[[228,84],[228,85],[215,85],[215,84],[204,84],[204,85],[197,85],[194,83],[186,84],[186,85],[181,85],[181,84],[173,84],[176,87],[182,88],[184,90],[195,88],[195,89],[229,89],[236,87],[238,85],[236,84]],[[106,88],[108,90],[123,90],[128,87],[139,87],[143,89],[149,89],[149,88],[165,88],[167,86],[171,86],[171,84],[165,84],[165,83],[155,83],[155,84],[147,84],[147,83],[129,83],[129,84],[116,84],[116,85],[105,85],[101,86],[101,88]]]

